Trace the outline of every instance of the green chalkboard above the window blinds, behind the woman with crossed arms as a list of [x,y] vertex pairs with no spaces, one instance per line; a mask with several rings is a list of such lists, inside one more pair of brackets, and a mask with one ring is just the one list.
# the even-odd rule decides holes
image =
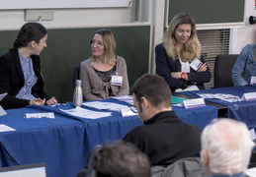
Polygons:
[[168,24],[181,12],[197,24],[241,23],[244,16],[244,0],[169,0],[168,7]]

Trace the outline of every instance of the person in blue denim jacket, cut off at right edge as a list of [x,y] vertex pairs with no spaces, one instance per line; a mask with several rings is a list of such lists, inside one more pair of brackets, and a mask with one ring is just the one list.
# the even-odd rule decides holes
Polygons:
[[256,84],[256,43],[247,44],[239,54],[233,69],[234,86]]

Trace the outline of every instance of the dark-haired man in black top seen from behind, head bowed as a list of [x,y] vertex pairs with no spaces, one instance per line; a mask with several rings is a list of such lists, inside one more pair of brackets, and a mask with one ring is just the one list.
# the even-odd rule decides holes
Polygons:
[[171,90],[160,76],[145,74],[130,90],[144,125],[131,129],[125,142],[146,153],[152,166],[200,156],[202,131],[177,117],[171,107]]

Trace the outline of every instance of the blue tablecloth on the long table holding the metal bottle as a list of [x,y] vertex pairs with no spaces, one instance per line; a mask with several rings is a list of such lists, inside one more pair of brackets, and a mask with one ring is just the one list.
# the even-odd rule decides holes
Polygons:
[[[128,105],[115,99],[103,101]],[[91,148],[122,140],[131,128],[142,124],[138,116],[122,117],[119,111],[112,111],[108,117],[87,119],[60,110],[71,108],[72,103],[68,102],[6,110],[7,115],[0,117],[0,124],[16,131],[0,132],[0,166],[46,162],[49,177],[76,176]],[[174,106],[173,109],[183,121],[202,128],[217,116],[216,107],[210,105],[191,109]],[[55,118],[24,118],[25,113],[43,112],[53,112]]]

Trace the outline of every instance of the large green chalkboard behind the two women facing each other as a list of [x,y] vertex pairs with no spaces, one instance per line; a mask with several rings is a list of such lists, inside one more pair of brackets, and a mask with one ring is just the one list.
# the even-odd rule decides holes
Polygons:
[[[91,56],[90,38],[97,29],[111,29],[117,40],[117,54],[128,65],[128,81],[148,72],[150,26],[48,29],[47,47],[41,53],[45,91],[59,102],[72,101],[73,69]],[[0,31],[0,55],[12,46],[18,31]]]

